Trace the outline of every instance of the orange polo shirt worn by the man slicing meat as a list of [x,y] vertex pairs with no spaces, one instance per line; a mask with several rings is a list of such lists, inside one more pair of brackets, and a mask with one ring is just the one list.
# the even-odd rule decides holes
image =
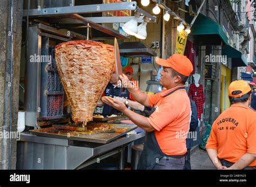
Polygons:
[[186,135],[191,117],[190,99],[184,89],[164,97],[176,88],[179,87],[147,96],[149,104],[156,106],[156,111],[148,120],[156,129],[154,134],[158,145],[166,155],[183,155],[187,152]]

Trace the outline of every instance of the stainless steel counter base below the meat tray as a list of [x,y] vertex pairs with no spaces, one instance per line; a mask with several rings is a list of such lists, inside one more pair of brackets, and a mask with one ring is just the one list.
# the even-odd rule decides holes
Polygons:
[[17,142],[17,169],[81,169],[117,153],[120,153],[119,168],[124,169],[124,148],[144,136],[142,132],[102,144],[21,133]]

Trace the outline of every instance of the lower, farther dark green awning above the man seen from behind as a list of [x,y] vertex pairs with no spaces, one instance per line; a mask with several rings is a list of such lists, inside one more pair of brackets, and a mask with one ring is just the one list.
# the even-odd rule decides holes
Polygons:
[[229,58],[232,58],[232,67],[242,67],[242,66],[248,66],[248,63],[246,62],[244,55],[240,51],[237,51],[237,49],[233,48],[230,45],[223,46],[222,54],[226,55]]

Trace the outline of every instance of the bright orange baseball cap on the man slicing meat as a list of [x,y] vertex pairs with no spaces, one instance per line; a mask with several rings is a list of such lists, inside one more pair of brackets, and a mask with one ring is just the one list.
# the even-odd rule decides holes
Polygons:
[[181,54],[173,54],[168,59],[160,59],[158,56],[156,57],[156,62],[160,66],[170,67],[176,70],[179,74],[184,76],[190,76],[193,71],[193,66],[191,61],[184,55]]

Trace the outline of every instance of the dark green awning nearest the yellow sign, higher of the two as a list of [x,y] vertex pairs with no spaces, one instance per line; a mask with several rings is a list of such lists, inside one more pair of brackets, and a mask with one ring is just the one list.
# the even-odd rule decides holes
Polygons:
[[228,44],[228,39],[220,25],[212,19],[199,14],[191,28],[196,45]]

